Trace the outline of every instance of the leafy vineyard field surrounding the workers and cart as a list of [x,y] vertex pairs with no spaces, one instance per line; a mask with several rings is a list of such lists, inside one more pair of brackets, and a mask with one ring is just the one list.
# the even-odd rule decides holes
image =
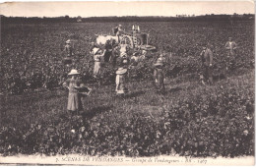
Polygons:
[[[131,29],[133,23],[120,23]],[[116,23],[1,24],[0,154],[71,154],[193,157],[254,155],[254,23],[147,22],[157,52],[131,70],[126,97],[115,95],[110,65],[104,83],[92,82],[90,43]],[[224,44],[238,45],[232,64]],[[73,67],[93,88],[84,111],[67,112],[67,39]],[[199,83],[200,52],[214,46],[214,85]],[[156,93],[152,65],[166,58],[166,93]],[[218,78],[227,65],[227,78]],[[46,85],[46,86],[45,86]]]

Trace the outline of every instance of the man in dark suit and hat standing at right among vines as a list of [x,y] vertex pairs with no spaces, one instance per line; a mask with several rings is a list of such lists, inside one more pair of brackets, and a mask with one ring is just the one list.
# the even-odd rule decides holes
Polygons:
[[212,51],[212,44],[208,43],[205,53],[204,53],[204,63],[203,63],[203,75],[204,78],[209,81],[209,84],[212,85],[213,84],[213,70],[212,70],[212,66],[213,66],[213,51]]

